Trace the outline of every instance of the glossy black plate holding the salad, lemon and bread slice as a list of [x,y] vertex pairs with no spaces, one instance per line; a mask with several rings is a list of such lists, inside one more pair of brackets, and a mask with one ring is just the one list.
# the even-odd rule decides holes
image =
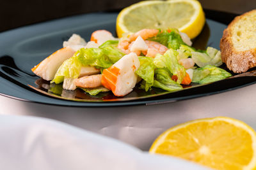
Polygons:
[[[193,46],[200,49],[204,49],[206,46],[219,48],[222,32],[235,15],[211,10],[205,10],[205,14],[207,23],[200,36],[194,40]],[[253,77],[238,77],[239,81],[237,78],[231,78],[172,93],[159,89],[154,89],[151,92],[136,89],[131,94],[121,98],[104,94],[99,97],[86,96],[85,99],[72,101],[65,100],[67,99],[65,97],[74,96],[74,93],[63,91],[65,97],[61,97],[61,94],[60,96],[49,97],[47,92],[49,82],[38,79],[31,72],[31,67],[60,49],[62,42],[73,33],[80,34],[87,41],[89,41],[92,32],[97,29],[106,29],[115,34],[116,16],[117,13],[91,13],[2,32],[0,34],[1,95],[23,101],[62,106],[125,106],[169,103],[208,96],[254,83]],[[84,98],[81,91],[78,91],[76,95]]]

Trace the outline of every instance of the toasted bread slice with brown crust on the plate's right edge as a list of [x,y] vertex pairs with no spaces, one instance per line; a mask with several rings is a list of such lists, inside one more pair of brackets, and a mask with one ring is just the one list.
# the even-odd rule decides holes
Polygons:
[[256,66],[256,10],[236,17],[223,31],[221,59],[234,73]]

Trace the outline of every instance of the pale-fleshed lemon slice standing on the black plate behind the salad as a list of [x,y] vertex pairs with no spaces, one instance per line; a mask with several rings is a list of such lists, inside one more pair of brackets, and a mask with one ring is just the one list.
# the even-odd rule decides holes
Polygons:
[[198,1],[141,1],[118,14],[116,32],[120,38],[124,32],[141,29],[177,28],[192,39],[200,34],[204,23],[204,11]]

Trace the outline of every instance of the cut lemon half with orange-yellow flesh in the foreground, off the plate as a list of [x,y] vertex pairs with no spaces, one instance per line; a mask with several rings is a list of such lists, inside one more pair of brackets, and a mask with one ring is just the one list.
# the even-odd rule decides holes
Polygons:
[[256,169],[256,132],[227,117],[193,120],[165,131],[149,152],[180,157],[214,169]]

